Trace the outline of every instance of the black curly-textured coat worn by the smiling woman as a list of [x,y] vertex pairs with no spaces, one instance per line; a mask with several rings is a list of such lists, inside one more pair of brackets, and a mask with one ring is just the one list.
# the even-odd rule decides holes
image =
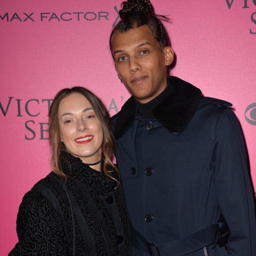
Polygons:
[[64,157],[66,183],[51,172],[25,194],[17,216],[19,242],[9,256],[130,255],[122,188],[114,189],[113,179],[79,158]]

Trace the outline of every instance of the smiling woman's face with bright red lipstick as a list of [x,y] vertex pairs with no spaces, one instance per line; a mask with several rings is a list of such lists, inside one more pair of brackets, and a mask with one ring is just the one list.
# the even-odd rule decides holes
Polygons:
[[84,163],[98,162],[102,154],[102,125],[87,98],[79,93],[63,98],[58,118],[66,149]]

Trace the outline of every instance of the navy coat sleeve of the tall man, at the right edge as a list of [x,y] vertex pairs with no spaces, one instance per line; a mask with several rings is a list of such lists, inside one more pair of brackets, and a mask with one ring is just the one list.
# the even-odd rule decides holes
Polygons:
[[218,205],[230,228],[228,255],[256,255],[256,221],[247,153],[237,117],[225,109],[215,127],[213,157]]

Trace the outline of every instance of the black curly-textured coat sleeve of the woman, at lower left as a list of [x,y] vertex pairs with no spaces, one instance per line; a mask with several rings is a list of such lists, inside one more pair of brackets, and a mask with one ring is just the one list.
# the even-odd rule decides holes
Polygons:
[[32,190],[23,197],[16,224],[19,242],[9,256],[67,255],[60,216],[40,192]]

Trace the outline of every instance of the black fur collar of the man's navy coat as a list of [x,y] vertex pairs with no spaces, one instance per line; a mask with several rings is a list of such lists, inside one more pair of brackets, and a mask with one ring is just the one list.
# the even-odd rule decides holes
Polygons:
[[[153,109],[154,117],[169,132],[183,132],[196,112],[197,105],[202,97],[201,90],[175,76],[168,77],[167,87],[162,102]],[[117,114],[117,122],[113,133],[116,139],[122,136],[132,124],[135,114],[136,101],[131,97]]]

